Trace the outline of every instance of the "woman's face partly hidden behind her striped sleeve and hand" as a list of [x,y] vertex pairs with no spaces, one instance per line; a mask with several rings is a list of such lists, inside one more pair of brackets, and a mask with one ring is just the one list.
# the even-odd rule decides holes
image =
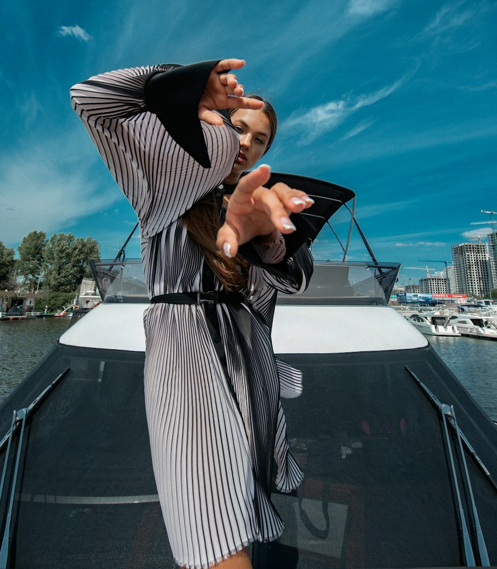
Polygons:
[[231,122],[240,135],[240,154],[224,181],[236,184],[241,173],[251,170],[266,151],[271,127],[261,110],[238,109],[231,115]]

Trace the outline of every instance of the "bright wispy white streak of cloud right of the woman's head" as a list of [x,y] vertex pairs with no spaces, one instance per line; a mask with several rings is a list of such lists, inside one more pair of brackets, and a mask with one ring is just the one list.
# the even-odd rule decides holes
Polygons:
[[[398,89],[412,73],[413,71],[406,73],[406,75],[395,81],[395,83],[378,89],[373,93],[362,94],[356,97],[348,96],[339,101],[329,101],[323,105],[315,106],[303,114],[298,112],[293,113],[286,121],[283,121],[281,129],[287,134],[300,134],[300,142],[308,144],[324,133],[335,129],[343,123],[346,118],[363,107],[374,105],[376,102],[388,97]],[[367,128],[367,126],[370,125],[366,125],[364,128]],[[364,130],[364,128],[361,130]],[[354,134],[357,134],[357,132]]]

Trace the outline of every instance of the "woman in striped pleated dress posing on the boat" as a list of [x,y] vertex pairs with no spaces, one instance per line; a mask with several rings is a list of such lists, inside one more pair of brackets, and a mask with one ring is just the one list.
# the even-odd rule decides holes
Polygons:
[[[300,377],[275,360],[270,324],[277,290],[302,291],[310,278],[307,248],[287,250],[282,236],[312,200],[264,188],[268,166],[240,178],[274,136],[264,102],[229,73],[243,65],[124,69],[71,90],[140,221],[152,462],[183,567],[250,567],[245,546],[283,530],[270,502],[273,456],[279,489],[302,479],[279,403],[299,394]],[[216,109],[235,109],[232,122]]]

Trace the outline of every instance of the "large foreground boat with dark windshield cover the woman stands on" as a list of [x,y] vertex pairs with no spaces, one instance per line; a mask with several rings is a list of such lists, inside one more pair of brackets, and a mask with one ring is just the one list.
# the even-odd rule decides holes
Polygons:
[[[339,260],[316,261],[304,294],[278,295],[274,351],[304,375],[283,399],[304,481],[274,489],[286,529],[249,546],[254,569],[497,564],[495,423],[388,306],[400,265],[374,257],[354,192],[293,185],[351,220]],[[353,230],[370,260],[347,260]],[[0,568],[174,566],[145,420],[141,261],[91,264],[103,302],[0,409]]]

